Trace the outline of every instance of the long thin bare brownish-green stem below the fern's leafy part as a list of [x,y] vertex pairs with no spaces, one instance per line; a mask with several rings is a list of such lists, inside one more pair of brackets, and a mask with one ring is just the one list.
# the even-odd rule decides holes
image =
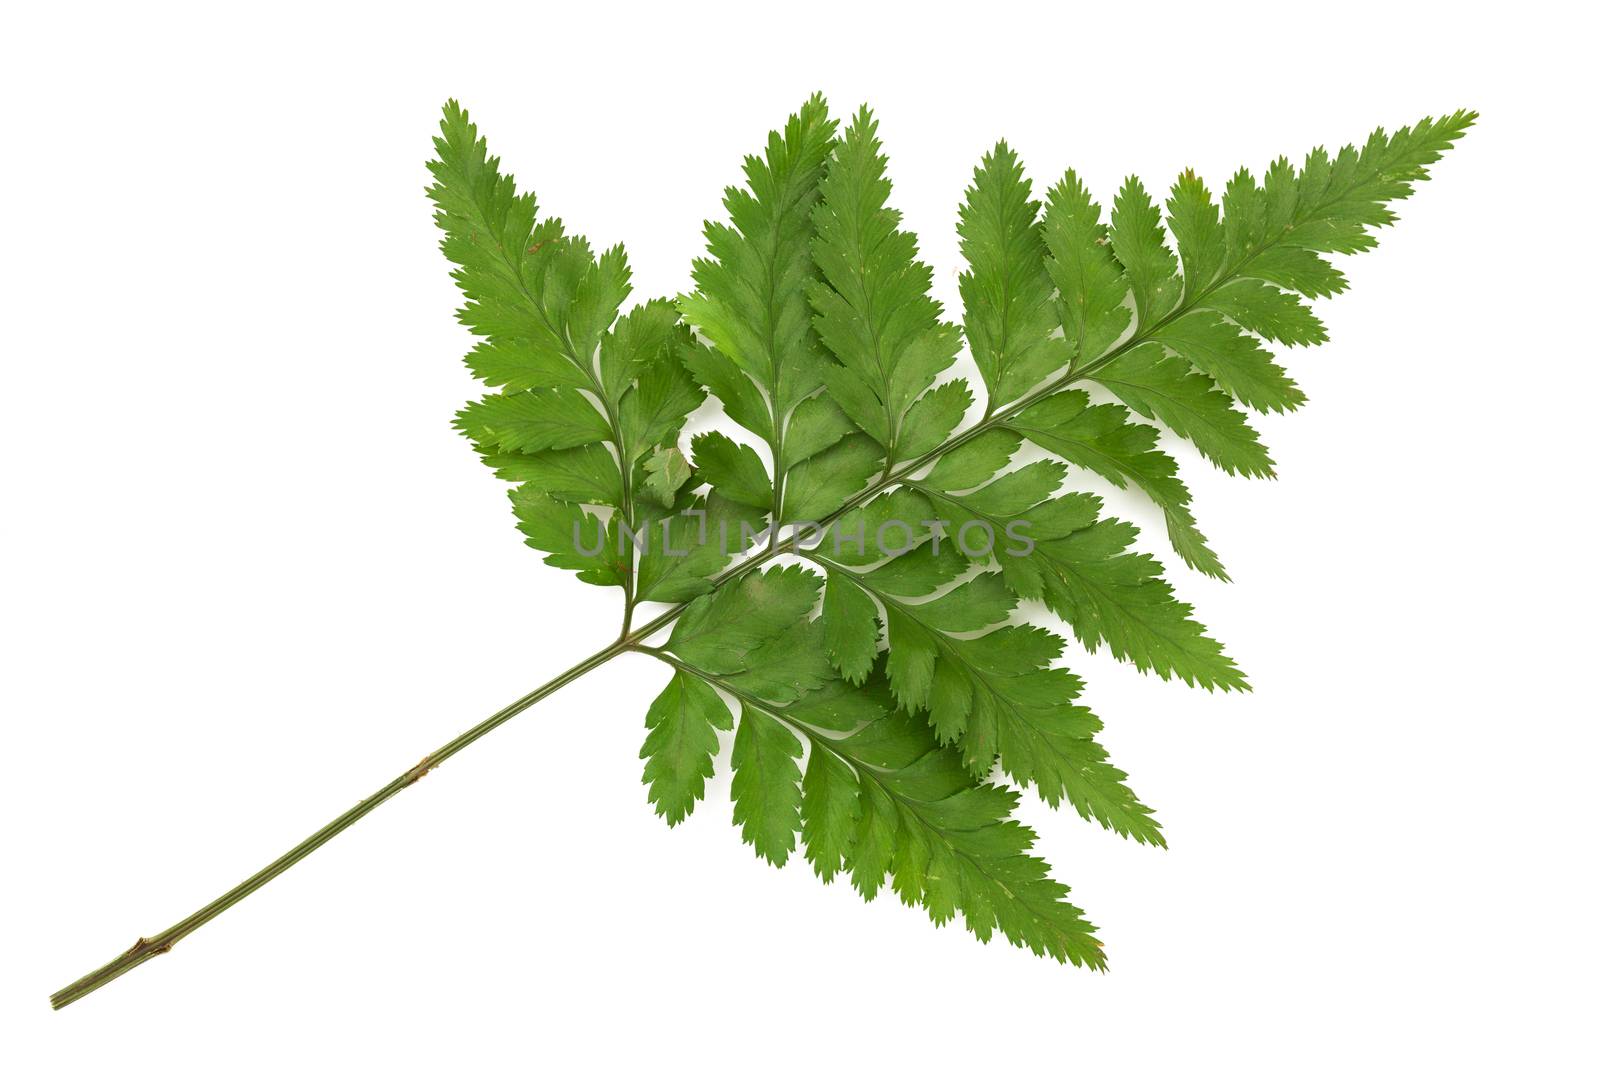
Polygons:
[[[674,613],[674,617],[677,617],[675,613]],[[667,619],[667,621],[670,621],[670,619]],[[648,624],[646,627],[640,627],[638,633],[630,635],[630,641],[642,640],[643,637],[646,637],[648,633],[661,629],[662,625],[666,625],[666,621],[656,619],[651,624]],[[323,845],[326,845],[328,841],[331,841],[333,838],[336,838],[339,833],[344,833],[347,829],[350,829],[352,825],[355,825],[357,822],[360,822],[362,819],[365,819],[368,814],[371,814],[373,809],[376,809],[381,803],[384,803],[386,800],[389,800],[395,793],[402,792],[403,789],[406,789],[410,785],[414,785],[418,781],[421,781],[421,777],[424,774],[427,774],[429,771],[432,771],[435,766],[438,766],[440,763],[443,763],[445,760],[448,760],[454,753],[461,752],[462,749],[466,749],[467,745],[470,745],[474,741],[477,741],[477,739],[483,737],[485,734],[491,733],[498,726],[510,721],[512,718],[515,718],[522,712],[528,710],[530,707],[533,707],[534,704],[538,704],[544,697],[550,696],[552,693],[555,693],[557,689],[560,689],[566,683],[581,678],[582,675],[589,673],[590,670],[594,670],[600,664],[608,662],[610,659],[616,657],[624,649],[630,648],[630,641],[618,640],[618,641],[613,641],[611,645],[606,645],[605,648],[602,648],[594,656],[589,656],[587,659],[584,659],[584,661],[581,661],[578,664],[573,664],[571,667],[568,667],[566,670],[563,670],[557,677],[554,677],[549,681],[546,681],[544,685],[541,685],[538,689],[533,689],[531,693],[528,693],[522,699],[518,699],[518,701],[515,701],[512,704],[507,704],[501,710],[494,712],[493,715],[490,715],[488,718],[485,718],[482,723],[478,723],[472,729],[467,729],[464,734],[458,736],[454,741],[451,741],[451,742],[442,745],[440,749],[435,749],[429,755],[422,757],[422,760],[418,761],[416,766],[410,768],[405,774],[395,777],[387,785],[384,785],[382,789],[379,789],[376,793],[373,793],[366,800],[360,801],[358,805],[355,805],[354,808],[350,808],[349,811],[346,811],[344,814],[341,814],[338,819],[334,819],[328,825],[322,827],[320,830],[317,830],[315,833],[312,833],[309,838],[306,838],[304,841],[301,841],[299,845],[296,845],[290,851],[283,853],[282,856],[278,856],[277,859],[274,859],[270,864],[267,864],[266,867],[262,867],[256,873],[250,875],[248,878],[245,878],[243,881],[240,881],[237,886],[234,886],[232,889],[229,889],[227,893],[224,893],[218,899],[214,899],[210,904],[206,904],[205,907],[202,907],[194,915],[189,915],[187,918],[179,920],[178,923],[168,926],[166,929],[163,929],[162,933],[155,934],[154,937],[139,937],[136,942],[133,942],[131,949],[128,949],[126,952],[123,952],[122,955],[118,955],[115,960],[112,960],[106,966],[98,968],[94,971],[90,971],[88,974],[85,974],[78,981],[72,982],[70,985],[66,985],[66,987],[56,990],[54,993],[51,993],[51,997],[50,997],[50,1006],[56,1008],[56,1009],[66,1008],[72,1001],[80,1000],[83,997],[88,997],[90,993],[93,993],[101,985],[106,985],[107,982],[112,982],[112,981],[122,977],[123,974],[126,974],[128,971],[134,969],[136,966],[141,966],[142,963],[147,963],[149,960],[152,960],[152,958],[155,958],[158,955],[171,952],[173,945],[176,945],[179,941],[182,941],[189,934],[195,933],[197,929],[200,929],[202,926],[205,926],[206,923],[210,923],[213,918],[216,918],[218,915],[221,915],[227,909],[234,907],[235,904],[238,904],[240,901],[243,901],[246,896],[250,896],[251,893],[254,893],[261,886],[267,885],[269,881],[272,881],[274,878],[277,878],[278,875],[282,875],[285,870],[288,870],[290,867],[293,867],[299,861],[302,861],[307,856],[310,856],[312,853],[315,853],[318,848],[322,848]]]

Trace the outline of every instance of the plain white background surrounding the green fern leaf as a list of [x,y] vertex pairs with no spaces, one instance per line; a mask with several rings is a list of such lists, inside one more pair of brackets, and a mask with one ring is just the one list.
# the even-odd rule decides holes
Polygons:
[[[1592,40],[1538,3],[29,5],[3,67],[0,1059],[1594,1062]],[[466,102],[542,205],[688,288],[813,90],[870,101],[955,298],[1008,138],[1219,184],[1477,107],[1344,261],[1274,483],[1179,450],[1250,670],[1069,653],[1170,851],[1037,801],[1106,976],[645,803],[614,662],[165,958],[46,993],[610,640],[450,429],[477,387],[422,162]],[[1125,510],[1126,514],[1126,510]],[[1170,557],[1170,553],[1168,553]]]

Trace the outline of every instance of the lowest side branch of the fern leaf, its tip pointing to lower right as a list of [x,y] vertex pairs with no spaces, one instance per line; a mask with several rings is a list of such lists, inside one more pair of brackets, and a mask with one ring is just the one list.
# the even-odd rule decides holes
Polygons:
[[[979,941],[998,929],[1038,955],[1102,968],[1094,928],[1066,901],[1066,886],[1029,854],[1034,833],[1010,819],[1016,793],[976,784],[926,726],[894,710],[880,683],[858,688],[834,678],[787,701],[749,683],[749,664],[762,648],[749,646],[755,632],[782,630],[774,624],[784,617],[790,627],[808,625],[800,589],[794,569],[776,577],[752,573],[707,598],[718,600],[718,606],[696,619],[686,643],[672,648],[669,641],[656,653],[675,675],[651,709],[646,752],[653,763],[646,765],[646,781],[659,785],[666,765],[659,757],[664,742],[656,737],[667,728],[667,713],[658,713],[658,707],[678,713],[686,680],[715,685],[741,707],[733,742],[734,821],[758,856],[781,867],[798,841],[824,881],[848,872],[869,901],[888,881],[901,901],[923,907],[938,925],[960,912]],[[707,656],[701,638],[734,608],[744,608],[741,619],[762,621],[741,627]],[[733,648],[746,651],[730,656]],[[677,777],[675,797],[698,797],[706,753],[715,750],[715,737],[699,729],[709,715],[691,715],[688,721],[680,715],[670,726],[693,734],[677,752],[688,766]],[[723,720],[722,728],[728,725]],[[1118,782],[1120,776],[1110,774],[1104,785],[1115,789]],[[669,819],[682,808],[669,806]]]

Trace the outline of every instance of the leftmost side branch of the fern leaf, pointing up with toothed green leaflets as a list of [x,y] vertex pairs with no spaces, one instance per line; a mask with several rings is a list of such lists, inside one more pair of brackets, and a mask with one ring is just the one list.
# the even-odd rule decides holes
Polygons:
[[[469,403],[456,427],[512,491],[518,528],[546,563],[587,582],[621,585],[635,597],[691,597],[707,581],[635,587],[635,531],[646,506],[635,488],[680,507],[677,485],[650,467],[674,448],[704,390],[685,366],[693,344],[667,301],[648,301],[618,317],[630,293],[621,246],[595,258],[558,219],[538,219],[530,194],[499,171],[467,114],[445,107],[429,187],[467,298],[461,322],[485,338],[467,366],[499,392]],[[582,510],[600,506],[597,517]],[[664,534],[670,539],[670,534]],[[707,558],[709,557],[709,558]],[[699,576],[726,566],[730,553],[701,552]],[[682,568],[678,568],[682,569]]]

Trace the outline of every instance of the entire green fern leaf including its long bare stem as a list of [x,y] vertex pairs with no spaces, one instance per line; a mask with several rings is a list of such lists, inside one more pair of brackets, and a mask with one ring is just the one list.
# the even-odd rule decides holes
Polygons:
[[[494,392],[456,426],[546,563],[622,593],[621,635],[422,760],[219,901],[54,997],[62,1006],[166,952],[445,758],[626,653],[669,680],[645,712],[643,781],[677,824],[731,733],[733,819],[774,865],[885,886],[1090,968],[1094,926],[1011,814],[1035,789],[1126,838],[1160,822],[1096,741],[1066,638],[1160,678],[1248,688],[1136,530],[1070,469],[1147,496],[1171,549],[1227,577],[1160,430],[1227,474],[1274,477],[1246,411],[1304,394],[1266,344],[1320,344],[1307,301],[1472,125],[1472,112],[1312,150],[1213,194],[1157,203],[1130,178],[1106,211],[1067,171],[1035,195],[998,142],[958,214],[960,323],[890,206],[867,109],[840,130],[806,101],[706,224],[694,290],[632,306],[621,246],[597,253],[501,173],[445,107],[429,189]],[[970,352],[976,381],[954,373]],[[1090,387],[1094,392],[1090,392]],[[733,424],[685,440],[715,398]],[[733,429],[738,427],[738,429]],[[787,557],[787,558],[784,558]],[[635,608],[667,605],[635,624]]]

